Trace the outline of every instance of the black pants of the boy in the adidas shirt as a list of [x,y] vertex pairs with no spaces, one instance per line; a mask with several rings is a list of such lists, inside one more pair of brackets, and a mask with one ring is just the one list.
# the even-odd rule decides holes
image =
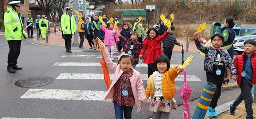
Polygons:
[[218,99],[221,96],[221,86],[222,86],[224,77],[217,76],[217,75],[206,75],[206,78],[207,78],[207,82],[213,83],[217,87],[212,97],[212,101],[209,105],[209,107],[215,108],[217,106]]

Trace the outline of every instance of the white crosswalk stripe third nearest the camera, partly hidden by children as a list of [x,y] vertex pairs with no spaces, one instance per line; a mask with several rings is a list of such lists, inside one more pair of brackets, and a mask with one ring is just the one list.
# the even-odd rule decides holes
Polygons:
[[[171,64],[171,67],[174,67],[179,64]],[[52,66],[80,66],[80,67],[102,67],[99,63],[97,62],[55,62]],[[180,65],[181,66],[181,65]],[[147,64],[137,64],[136,67],[148,67]]]

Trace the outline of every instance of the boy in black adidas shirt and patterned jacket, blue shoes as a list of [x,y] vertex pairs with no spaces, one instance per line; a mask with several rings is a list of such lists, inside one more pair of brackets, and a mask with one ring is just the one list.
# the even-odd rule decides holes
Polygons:
[[[221,96],[224,73],[227,70],[227,67],[229,67],[231,74],[237,75],[236,68],[234,67],[228,52],[221,49],[221,44],[223,44],[224,41],[224,37],[221,34],[216,33],[215,35],[212,35],[212,46],[204,46],[200,44],[200,41],[198,40],[198,32],[195,32],[193,37],[196,47],[206,54],[204,59],[204,70],[206,71],[207,82],[213,83],[217,87],[206,114],[209,117],[217,117],[218,114],[215,107]],[[234,79],[235,76],[232,76],[232,78]]]

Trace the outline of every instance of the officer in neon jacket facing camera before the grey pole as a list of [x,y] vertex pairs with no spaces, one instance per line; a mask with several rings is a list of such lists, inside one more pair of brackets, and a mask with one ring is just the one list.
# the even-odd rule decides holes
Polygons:
[[72,7],[67,7],[61,16],[61,30],[63,31],[66,52],[71,53],[71,38],[76,33],[76,21],[72,15]]

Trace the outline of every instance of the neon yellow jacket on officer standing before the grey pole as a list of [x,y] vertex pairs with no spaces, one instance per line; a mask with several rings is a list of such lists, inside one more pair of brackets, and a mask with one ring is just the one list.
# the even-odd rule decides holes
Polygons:
[[67,12],[65,12],[62,16],[61,16],[61,29],[62,31],[66,30],[66,33],[63,32],[63,34],[74,34],[74,32],[76,31],[76,21],[75,21],[75,17],[71,14],[67,14]]

